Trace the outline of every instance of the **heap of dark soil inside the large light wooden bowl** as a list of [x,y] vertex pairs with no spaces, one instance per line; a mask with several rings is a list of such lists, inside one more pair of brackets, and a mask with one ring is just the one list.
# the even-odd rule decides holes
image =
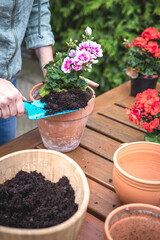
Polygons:
[[67,177],[57,183],[36,171],[19,171],[0,184],[0,225],[15,228],[46,228],[69,219],[78,210]]

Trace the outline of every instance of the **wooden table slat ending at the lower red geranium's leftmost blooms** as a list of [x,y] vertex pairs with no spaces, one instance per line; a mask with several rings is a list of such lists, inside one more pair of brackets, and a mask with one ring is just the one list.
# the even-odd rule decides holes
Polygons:
[[136,125],[135,123],[131,122],[126,115],[126,110],[123,107],[119,107],[116,105],[109,106],[104,110],[100,111],[99,114],[114,119],[117,122],[122,124],[126,124],[127,126],[132,127],[133,129],[138,129],[141,132],[146,132],[141,126]]

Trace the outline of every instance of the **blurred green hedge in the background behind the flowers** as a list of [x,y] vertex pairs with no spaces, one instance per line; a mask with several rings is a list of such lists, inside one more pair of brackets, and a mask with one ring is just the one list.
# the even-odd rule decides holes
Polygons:
[[66,41],[79,39],[85,28],[93,30],[103,57],[85,77],[97,82],[97,95],[125,81],[126,49],[123,39],[132,41],[148,27],[160,31],[159,0],[51,0],[54,51],[65,51]]

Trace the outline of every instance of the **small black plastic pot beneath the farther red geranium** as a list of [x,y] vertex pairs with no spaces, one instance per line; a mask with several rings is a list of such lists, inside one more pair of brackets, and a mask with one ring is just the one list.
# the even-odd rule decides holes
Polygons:
[[136,79],[131,79],[131,96],[136,97],[137,93],[141,93],[149,88],[155,89],[158,81],[156,78],[144,78],[138,77]]

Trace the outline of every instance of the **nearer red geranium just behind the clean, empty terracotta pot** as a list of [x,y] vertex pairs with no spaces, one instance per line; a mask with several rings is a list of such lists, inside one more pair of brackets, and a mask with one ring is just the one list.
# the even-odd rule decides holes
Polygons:
[[132,109],[126,109],[129,119],[147,130],[146,141],[160,143],[160,93],[155,89],[148,89],[136,96]]

